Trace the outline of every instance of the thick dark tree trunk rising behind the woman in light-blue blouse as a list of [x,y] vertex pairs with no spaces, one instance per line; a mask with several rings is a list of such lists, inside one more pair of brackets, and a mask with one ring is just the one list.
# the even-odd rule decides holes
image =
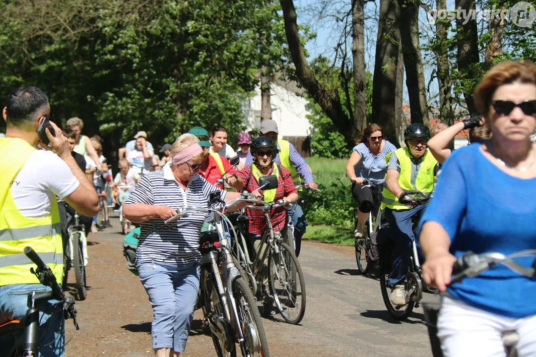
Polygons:
[[374,121],[384,126],[383,135],[393,143],[398,143],[396,83],[400,32],[396,24],[399,15],[398,2],[390,0],[379,2],[372,110]]

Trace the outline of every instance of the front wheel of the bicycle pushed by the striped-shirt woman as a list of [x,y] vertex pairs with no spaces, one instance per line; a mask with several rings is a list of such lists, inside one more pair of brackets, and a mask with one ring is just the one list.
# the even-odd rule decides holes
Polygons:
[[248,283],[242,277],[236,278],[233,282],[233,298],[236,302],[240,329],[244,336],[244,341],[240,344],[242,355],[244,357],[270,356],[268,340],[257,303]]

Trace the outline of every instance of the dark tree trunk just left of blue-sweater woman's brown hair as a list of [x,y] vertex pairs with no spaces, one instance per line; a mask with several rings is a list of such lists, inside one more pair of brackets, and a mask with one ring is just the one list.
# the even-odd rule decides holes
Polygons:
[[[455,6],[456,9],[467,9],[468,12],[477,11],[474,0],[455,0]],[[471,66],[475,63],[479,63],[477,20],[476,17],[473,19],[469,14],[467,14],[467,18],[459,18],[460,19],[456,19],[456,31],[458,36],[458,71],[463,78],[472,79],[475,77],[476,73],[471,69]],[[478,110],[474,105],[473,88],[463,86],[463,93],[469,115],[476,115]]]

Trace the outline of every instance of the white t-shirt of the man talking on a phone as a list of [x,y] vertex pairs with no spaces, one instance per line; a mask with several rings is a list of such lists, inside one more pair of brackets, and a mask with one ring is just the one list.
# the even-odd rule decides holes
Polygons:
[[11,194],[25,217],[50,215],[51,202],[75,192],[80,183],[69,166],[52,151],[37,150],[13,180]]

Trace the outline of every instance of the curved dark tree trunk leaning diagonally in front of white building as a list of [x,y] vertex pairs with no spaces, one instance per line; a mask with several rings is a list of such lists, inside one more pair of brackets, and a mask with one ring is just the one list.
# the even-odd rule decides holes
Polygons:
[[303,53],[303,47],[300,42],[300,34],[296,24],[296,9],[292,0],[280,0],[285,20],[285,34],[288,42],[288,49],[292,55],[292,62],[296,66],[296,77],[303,88],[314,98],[315,102],[320,105],[322,111],[333,121],[333,125],[344,135],[349,145],[354,145],[357,131],[352,120],[348,118],[343,110],[338,95],[330,96],[325,88],[315,78],[311,71],[307,59]]

